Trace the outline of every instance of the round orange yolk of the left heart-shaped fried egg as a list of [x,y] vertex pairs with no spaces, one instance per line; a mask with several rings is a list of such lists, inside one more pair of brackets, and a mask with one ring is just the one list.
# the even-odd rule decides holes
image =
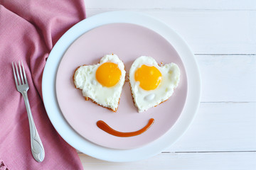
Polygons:
[[117,64],[113,62],[105,62],[97,69],[96,79],[102,86],[111,87],[118,83],[121,74],[122,72]]

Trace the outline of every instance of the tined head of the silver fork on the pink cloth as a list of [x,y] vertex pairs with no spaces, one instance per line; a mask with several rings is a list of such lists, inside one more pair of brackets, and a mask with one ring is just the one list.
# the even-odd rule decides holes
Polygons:
[[[21,63],[20,63],[18,61],[18,67],[17,67],[16,62],[11,62],[11,64],[12,64],[13,70],[14,70],[14,79],[15,79],[16,86],[21,86],[23,84],[28,84],[28,81],[26,79],[25,69],[24,69],[24,66],[23,66],[23,62],[21,61]],[[14,69],[14,64],[15,64],[15,69]],[[22,65],[22,70],[21,70],[21,65]],[[18,73],[18,68],[19,68],[20,73]]]

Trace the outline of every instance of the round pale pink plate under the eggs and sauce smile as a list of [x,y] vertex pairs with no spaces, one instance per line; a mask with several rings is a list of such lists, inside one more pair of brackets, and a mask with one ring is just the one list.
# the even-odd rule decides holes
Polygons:
[[[156,62],[178,64],[181,80],[168,101],[144,113],[138,113],[132,101],[129,82],[125,82],[117,113],[85,101],[75,89],[73,74],[83,64],[97,64],[107,54],[116,54],[129,68],[137,57],[154,57]],[[85,139],[103,147],[132,149],[157,140],[174,125],[183,110],[187,95],[186,71],[172,45],[149,28],[130,23],[111,23],[94,28],[73,42],[63,55],[56,77],[58,105],[70,126]],[[114,130],[132,132],[143,128],[150,118],[155,122],[141,135],[116,137],[97,128],[104,120]]]

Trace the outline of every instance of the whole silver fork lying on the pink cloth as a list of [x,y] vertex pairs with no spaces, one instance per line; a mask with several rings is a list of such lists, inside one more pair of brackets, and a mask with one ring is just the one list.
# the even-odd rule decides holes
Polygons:
[[[22,71],[21,71],[21,64],[22,64]],[[16,88],[18,92],[20,92],[24,98],[25,104],[26,104],[26,110],[28,113],[28,122],[29,122],[29,130],[31,135],[31,152],[33,154],[33,158],[36,159],[37,162],[43,162],[43,159],[45,157],[45,152],[43,149],[43,144],[41,142],[41,139],[38,135],[38,132],[36,130],[36,125],[33,121],[32,113],[31,113],[31,107],[28,102],[28,80],[26,79],[26,72],[24,70],[23,62],[18,62],[18,67],[15,62],[15,68],[14,69],[14,62],[12,62],[12,67],[14,70],[14,80],[16,84]],[[18,68],[20,74],[18,74]]]

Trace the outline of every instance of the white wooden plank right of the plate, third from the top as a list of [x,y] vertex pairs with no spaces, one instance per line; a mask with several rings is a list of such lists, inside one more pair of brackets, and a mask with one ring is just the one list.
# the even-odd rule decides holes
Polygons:
[[196,55],[203,102],[256,101],[255,55]]

